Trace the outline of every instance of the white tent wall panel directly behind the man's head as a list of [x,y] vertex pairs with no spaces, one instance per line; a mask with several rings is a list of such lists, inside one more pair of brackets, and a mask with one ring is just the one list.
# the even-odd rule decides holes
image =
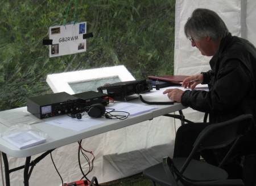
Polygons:
[[[245,2],[245,1],[243,1]],[[224,5],[225,3],[225,5]],[[196,47],[185,37],[184,24],[192,11],[206,8],[216,11],[226,23],[233,35],[241,36],[241,3],[240,0],[177,0],[175,12],[175,75],[194,75],[210,69],[210,57],[202,56]]]

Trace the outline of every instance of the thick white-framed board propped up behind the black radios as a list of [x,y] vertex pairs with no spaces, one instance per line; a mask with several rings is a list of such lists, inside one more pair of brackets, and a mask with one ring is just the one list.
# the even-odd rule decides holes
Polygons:
[[99,86],[106,83],[111,84],[114,82],[133,80],[135,80],[135,78],[123,65],[55,73],[47,75],[46,78],[46,82],[54,93],[67,92],[69,94],[89,90],[97,91]]

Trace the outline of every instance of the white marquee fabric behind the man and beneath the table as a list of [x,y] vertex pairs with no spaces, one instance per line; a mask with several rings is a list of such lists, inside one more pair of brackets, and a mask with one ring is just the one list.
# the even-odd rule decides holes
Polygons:
[[[175,75],[193,75],[209,69],[209,58],[201,56],[196,48],[191,47],[183,31],[185,21],[197,7],[216,11],[224,19],[233,35],[243,36],[256,44],[255,0],[176,0]],[[202,113],[192,109],[186,109],[184,112],[186,118],[196,122],[202,121]],[[102,183],[133,175],[160,162],[164,155],[172,155],[175,130],[171,118],[159,117],[125,129],[97,135],[93,140],[85,139],[84,147],[92,150],[96,155],[93,172],[88,177],[97,176]],[[76,143],[57,148],[53,151],[53,159],[64,181],[75,181],[81,178]],[[10,158],[9,160],[10,168],[24,163],[24,159]],[[10,179],[11,185],[22,185],[23,170],[11,173]],[[59,176],[49,156],[35,166],[30,184],[60,185]]]

